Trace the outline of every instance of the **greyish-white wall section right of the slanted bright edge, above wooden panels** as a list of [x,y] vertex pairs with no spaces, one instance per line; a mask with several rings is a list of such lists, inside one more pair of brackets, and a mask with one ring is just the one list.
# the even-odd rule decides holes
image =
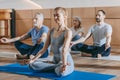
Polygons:
[[120,0],[31,0],[41,5],[42,8],[55,8],[57,6],[73,7],[103,7],[120,6]]

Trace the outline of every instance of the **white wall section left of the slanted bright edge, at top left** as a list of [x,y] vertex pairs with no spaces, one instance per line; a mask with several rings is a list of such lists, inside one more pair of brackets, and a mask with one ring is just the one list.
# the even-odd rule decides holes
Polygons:
[[0,0],[0,9],[40,9],[41,6],[30,0]]

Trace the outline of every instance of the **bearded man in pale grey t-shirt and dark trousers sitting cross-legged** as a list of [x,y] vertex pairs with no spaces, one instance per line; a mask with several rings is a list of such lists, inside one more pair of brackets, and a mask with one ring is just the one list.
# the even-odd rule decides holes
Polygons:
[[[90,27],[85,37],[71,42],[71,46],[80,44],[77,48],[82,52],[91,53],[92,57],[98,57],[98,54],[101,56],[109,56],[111,50],[110,43],[112,27],[111,25],[105,23],[104,19],[105,12],[103,10],[98,10],[96,15],[96,24]],[[82,43],[91,36],[93,38],[93,45],[86,45]]]

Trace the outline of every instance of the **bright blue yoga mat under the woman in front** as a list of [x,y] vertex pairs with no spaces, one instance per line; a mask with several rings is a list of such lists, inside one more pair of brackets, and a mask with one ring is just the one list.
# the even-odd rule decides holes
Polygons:
[[93,72],[74,71],[72,74],[65,77],[58,77],[55,73],[43,73],[31,71],[28,65],[20,65],[13,63],[9,65],[0,66],[0,72],[9,72],[14,74],[21,74],[34,77],[48,78],[52,80],[109,80],[114,75],[99,74]]

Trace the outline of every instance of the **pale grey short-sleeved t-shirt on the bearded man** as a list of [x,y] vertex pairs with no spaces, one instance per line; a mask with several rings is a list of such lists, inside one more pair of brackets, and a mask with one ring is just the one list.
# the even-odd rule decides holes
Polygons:
[[103,23],[101,25],[95,24],[89,29],[88,32],[92,33],[93,45],[102,46],[106,43],[106,34],[112,33],[112,27],[107,23]]

